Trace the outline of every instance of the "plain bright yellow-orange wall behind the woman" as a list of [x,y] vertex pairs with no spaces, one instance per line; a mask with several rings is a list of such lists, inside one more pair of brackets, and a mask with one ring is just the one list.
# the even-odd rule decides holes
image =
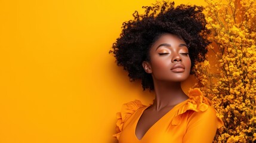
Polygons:
[[1,0],[0,142],[114,142],[121,105],[153,95],[108,51],[122,22],[153,2]]

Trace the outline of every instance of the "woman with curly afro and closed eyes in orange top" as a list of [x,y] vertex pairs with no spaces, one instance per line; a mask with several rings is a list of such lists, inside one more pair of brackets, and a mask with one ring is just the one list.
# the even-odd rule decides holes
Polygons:
[[199,89],[188,95],[181,89],[195,63],[205,60],[209,30],[203,8],[174,2],[143,8],[145,14],[135,11],[134,20],[123,24],[110,52],[131,80],[155,92],[155,100],[149,106],[124,104],[114,136],[121,143],[212,142],[223,122]]

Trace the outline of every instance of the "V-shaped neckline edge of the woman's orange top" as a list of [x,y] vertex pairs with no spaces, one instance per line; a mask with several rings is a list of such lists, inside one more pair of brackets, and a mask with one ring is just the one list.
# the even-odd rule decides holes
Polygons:
[[[188,98],[187,100],[189,100],[189,98]],[[174,108],[177,108],[178,105],[182,104],[183,102],[185,102],[185,101],[187,101],[187,100],[184,100],[184,101],[180,102],[179,104],[175,105],[173,108],[171,108],[171,110],[169,110],[167,113],[164,114],[164,116],[162,116],[162,117],[161,117],[160,119],[158,119],[155,123],[153,123],[153,125],[150,126],[149,129],[147,129],[147,131],[144,133],[144,135],[143,135],[140,139],[138,139],[138,137],[137,137],[137,135],[136,135],[137,125],[138,125],[138,121],[140,120],[140,118],[141,118],[142,114],[144,113],[144,111],[145,111],[147,108],[150,107],[150,105],[149,105],[149,106],[146,106],[146,107],[141,111],[140,116],[138,117],[138,119],[137,119],[136,122],[135,122],[135,129],[134,129],[135,138],[136,138],[138,141],[141,141],[141,140],[144,138],[144,136],[146,136],[147,133],[148,133],[158,122],[160,122],[160,120],[164,119],[164,117],[167,116],[169,113],[171,113],[171,111],[173,111]]]

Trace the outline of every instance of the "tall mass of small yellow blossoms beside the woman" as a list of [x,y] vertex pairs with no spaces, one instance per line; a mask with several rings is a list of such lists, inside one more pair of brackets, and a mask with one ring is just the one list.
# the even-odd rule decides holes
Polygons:
[[[254,0],[205,0],[208,49],[216,63],[195,66],[198,83],[223,118],[214,142],[256,142],[256,4]],[[215,67],[215,69],[212,69]]]

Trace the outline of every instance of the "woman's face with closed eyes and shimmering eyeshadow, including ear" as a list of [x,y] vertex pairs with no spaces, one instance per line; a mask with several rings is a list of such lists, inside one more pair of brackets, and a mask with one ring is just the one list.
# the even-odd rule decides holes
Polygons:
[[150,61],[144,61],[143,67],[153,80],[182,82],[189,77],[191,61],[183,39],[165,33],[153,43],[149,55]]

